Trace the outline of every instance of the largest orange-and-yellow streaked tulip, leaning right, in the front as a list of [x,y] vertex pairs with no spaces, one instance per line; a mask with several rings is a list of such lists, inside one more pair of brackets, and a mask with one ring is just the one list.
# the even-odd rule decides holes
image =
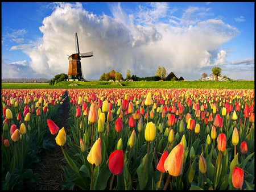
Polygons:
[[168,171],[171,176],[180,176],[183,170],[183,161],[185,157],[185,148],[183,144],[176,145],[172,149],[166,161],[164,161],[164,169]]

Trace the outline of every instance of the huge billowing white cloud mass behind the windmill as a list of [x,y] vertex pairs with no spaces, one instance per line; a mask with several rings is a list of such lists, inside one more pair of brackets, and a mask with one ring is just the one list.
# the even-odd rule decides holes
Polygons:
[[13,49],[22,48],[30,56],[32,70],[53,77],[68,73],[67,55],[76,51],[77,32],[80,52],[94,53],[81,59],[84,78],[100,78],[111,69],[154,76],[160,65],[167,74],[175,71],[176,76],[195,80],[201,68],[226,62],[226,52],[219,48],[240,33],[220,19],[204,19],[211,13],[203,7],[189,7],[177,18],[168,15],[167,3],[151,3],[152,9],[141,6],[139,14],[126,13],[120,3],[113,6],[112,17],[89,13],[81,3],[58,3],[43,20],[42,39],[32,47]]

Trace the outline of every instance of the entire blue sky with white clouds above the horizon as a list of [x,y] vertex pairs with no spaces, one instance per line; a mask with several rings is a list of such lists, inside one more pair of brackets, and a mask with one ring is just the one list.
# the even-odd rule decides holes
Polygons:
[[254,2],[2,2],[2,78],[68,73],[82,59],[86,79],[114,69],[154,76],[158,66],[185,80],[222,68],[254,80]]

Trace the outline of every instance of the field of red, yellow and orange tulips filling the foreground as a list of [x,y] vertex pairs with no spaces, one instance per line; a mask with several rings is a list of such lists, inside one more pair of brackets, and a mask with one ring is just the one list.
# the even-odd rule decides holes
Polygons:
[[2,189],[39,183],[57,147],[67,190],[254,190],[254,106],[254,89],[2,89]]

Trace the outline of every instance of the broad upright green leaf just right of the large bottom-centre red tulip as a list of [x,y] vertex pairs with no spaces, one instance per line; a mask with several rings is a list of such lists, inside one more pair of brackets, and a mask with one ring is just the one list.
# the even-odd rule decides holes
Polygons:
[[141,190],[144,189],[148,181],[147,161],[148,161],[148,156],[146,154],[142,159],[141,165],[139,165],[137,169],[137,174],[139,178],[139,187]]

